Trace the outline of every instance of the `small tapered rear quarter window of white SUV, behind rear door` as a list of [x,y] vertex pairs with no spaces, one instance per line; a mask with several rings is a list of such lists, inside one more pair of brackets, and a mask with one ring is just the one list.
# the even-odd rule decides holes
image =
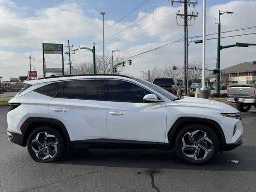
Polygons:
[[61,86],[64,84],[64,81],[62,82],[55,82],[51,83],[45,86],[42,86],[35,91],[50,97],[54,97],[55,94],[58,92],[58,90],[61,88]]

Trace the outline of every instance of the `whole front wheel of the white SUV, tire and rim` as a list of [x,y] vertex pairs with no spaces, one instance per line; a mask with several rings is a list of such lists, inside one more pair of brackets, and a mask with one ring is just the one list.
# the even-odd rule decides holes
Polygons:
[[216,134],[203,124],[184,126],[175,140],[179,158],[188,164],[206,164],[216,156],[218,149]]

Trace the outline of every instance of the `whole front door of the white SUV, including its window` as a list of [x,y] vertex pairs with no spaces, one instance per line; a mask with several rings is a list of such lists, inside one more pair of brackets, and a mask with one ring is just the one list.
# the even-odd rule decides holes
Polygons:
[[164,102],[144,103],[148,90],[122,80],[104,81],[109,140],[164,143],[166,109]]

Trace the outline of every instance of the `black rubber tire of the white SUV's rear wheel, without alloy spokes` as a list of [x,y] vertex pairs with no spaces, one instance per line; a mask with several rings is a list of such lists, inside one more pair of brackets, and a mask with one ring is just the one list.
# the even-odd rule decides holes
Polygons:
[[[50,144],[49,144],[49,145],[46,144],[46,143],[47,143],[47,140],[46,140],[46,143],[40,142],[40,143],[43,144],[42,147],[41,147],[41,144],[35,146],[35,143],[36,143],[36,142],[33,142],[33,144],[32,144],[32,140],[34,140],[34,139],[36,138],[36,136],[37,136],[39,133],[42,134],[42,132],[46,132],[47,134],[50,134],[50,135],[53,135],[53,136],[54,136],[54,137],[48,137],[47,139],[48,139],[48,140],[50,139],[50,141],[48,141],[48,144],[49,144],[50,142],[53,143],[53,141],[51,141],[51,140],[53,140],[53,138],[54,138],[55,144],[56,144],[56,140],[57,140],[57,142],[58,142],[58,144],[56,145],[57,152],[55,151],[54,146],[50,146]],[[40,134],[40,136],[41,136],[41,134]],[[55,140],[55,139],[56,139],[56,140]],[[43,140],[44,140],[44,139],[43,139]],[[36,153],[35,153],[34,150],[32,149],[32,145],[33,145],[34,149],[35,149],[37,146],[39,146],[41,149],[42,149],[42,148],[47,148],[47,149],[49,149],[48,147],[50,147],[51,149],[53,149],[53,150],[51,150],[51,151],[54,151],[54,152],[56,152],[56,153],[55,153],[54,156],[51,157],[51,158],[49,157],[49,158],[46,158],[46,159],[42,159],[42,158],[39,158],[39,157],[36,156]],[[44,145],[46,145],[47,147],[44,146]],[[58,130],[56,130],[56,129],[55,129],[54,127],[52,127],[52,126],[40,126],[40,127],[36,128],[34,131],[32,131],[31,134],[28,136],[27,148],[28,148],[28,153],[30,154],[31,158],[32,158],[33,160],[35,160],[36,162],[56,162],[56,161],[59,161],[59,160],[61,160],[61,159],[63,158],[63,156],[65,155],[66,150],[67,150],[66,143],[65,143],[65,141],[64,141],[63,136],[58,132]],[[38,149],[40,150],[40,148],[38,148]],[[46,149],[46,151],[47,151],[47,149]],[[49,154],[48,152],[46,153],[46,151],[45,151],[44,153],[40,153],[40,154],[41,154],[42,156],[44,156],[44,154]],[[52,154],[53,154],[53,153],[52,153]],[[38,156],[39,156],[39,155],[38,155]]]

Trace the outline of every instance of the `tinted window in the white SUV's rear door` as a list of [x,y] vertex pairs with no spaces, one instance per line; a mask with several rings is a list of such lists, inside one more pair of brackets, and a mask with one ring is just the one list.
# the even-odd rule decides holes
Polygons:
[[100,80],[70,81],[63,90],[63,97],[100,100]]

